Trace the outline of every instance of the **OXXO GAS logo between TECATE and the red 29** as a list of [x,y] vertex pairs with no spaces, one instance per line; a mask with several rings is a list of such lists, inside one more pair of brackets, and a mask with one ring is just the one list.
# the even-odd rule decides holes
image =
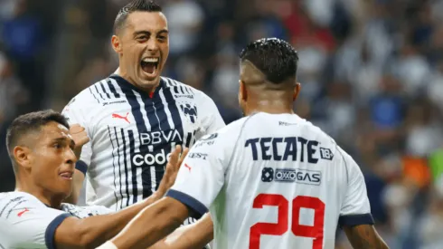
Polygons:
[[293,168],[263,168],[261,170],[261,180],[263,182],[297,182],[318,186],[322,182],[322,172]]

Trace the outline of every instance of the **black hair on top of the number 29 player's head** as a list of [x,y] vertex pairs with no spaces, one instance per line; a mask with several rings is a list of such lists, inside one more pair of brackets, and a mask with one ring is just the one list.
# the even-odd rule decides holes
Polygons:
[[289,43],[278,38],[264,38],[249,43],[240,53],[240,61],[252,62],[268,81],[278,84],[297,77],[298,55]]

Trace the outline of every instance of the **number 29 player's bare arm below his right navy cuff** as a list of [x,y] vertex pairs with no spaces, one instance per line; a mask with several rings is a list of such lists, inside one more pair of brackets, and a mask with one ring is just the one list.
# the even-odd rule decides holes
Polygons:
[[344,226],[343,228],[355,249],[389,249],[373,225]]

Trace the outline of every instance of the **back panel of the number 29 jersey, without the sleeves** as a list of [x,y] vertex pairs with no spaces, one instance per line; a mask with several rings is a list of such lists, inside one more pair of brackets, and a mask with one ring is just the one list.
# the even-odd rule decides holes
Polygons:
[[349,156],[297,115],[258,113],[238,122],[211,208],[215,248],[334,248]]

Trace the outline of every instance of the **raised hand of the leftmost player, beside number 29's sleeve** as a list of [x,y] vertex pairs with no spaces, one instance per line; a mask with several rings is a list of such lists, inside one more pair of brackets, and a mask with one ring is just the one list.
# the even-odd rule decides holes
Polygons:
[[165,175],[163,176],[163,179],[160,182],[160,186],[158,187],[157,190],[157,193],[160,196],[164,196],[166,191],[170,187],[173,187],[175,178],[177,177],[178,174],[178,169],[180,169],[180,166],[182,165],[184,158],[188,154],[188,151],[189,151],[188,148],[184,148],[182,151],[182,146],[180,145],[175,146],[174,151],[173,153],[171,153],[171,157],[167,162]]

